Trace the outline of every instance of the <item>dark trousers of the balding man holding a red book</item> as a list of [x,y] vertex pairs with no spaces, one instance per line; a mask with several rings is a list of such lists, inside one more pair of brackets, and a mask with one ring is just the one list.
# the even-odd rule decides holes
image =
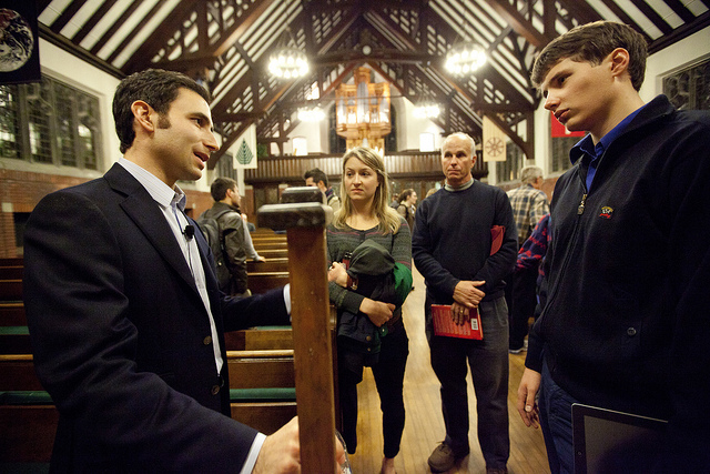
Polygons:
[[476,393],[478,442],[486,467],[506,467],[510,454],[508,435],[508,310],[501,296],[478,306],[483,341],[434,336],[432,367],[442,383],[442,411],[446,443],[456,454],[467,453],[468,366]]

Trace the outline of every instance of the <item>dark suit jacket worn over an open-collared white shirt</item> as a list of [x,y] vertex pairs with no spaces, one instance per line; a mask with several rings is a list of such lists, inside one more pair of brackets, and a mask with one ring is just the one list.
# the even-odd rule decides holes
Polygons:
[[[148,191],[114,164],[44,198],[24,236],[34,364],[60,412],[52,470],[239,472],[256,431],[229,417],[229,380],[215,389],[207,312]],[[223,332],[288,316],[281,290],[220,293],[195,239],[226,379]]]

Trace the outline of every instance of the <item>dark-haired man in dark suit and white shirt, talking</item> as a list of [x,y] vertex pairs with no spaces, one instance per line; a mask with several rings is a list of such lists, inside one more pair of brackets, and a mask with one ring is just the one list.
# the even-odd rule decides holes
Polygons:
[[52,193],[24,243],[38,374],[60,412],[55,472],[300,472],[297,420],[230,417],[224,331],[288,324],[287,289],[221,293],[178,180],[219,149],[206,91],[148,70],[119,85],[123,159]]

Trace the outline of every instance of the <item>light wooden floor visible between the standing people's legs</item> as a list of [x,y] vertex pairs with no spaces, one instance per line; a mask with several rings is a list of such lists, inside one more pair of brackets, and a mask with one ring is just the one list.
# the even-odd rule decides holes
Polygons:
[[[414,271],[415,290],[404,304],[404,322],[409,336],[409,359],[404,380],[404,403],[407,417],[402,450],[395,458],[399,474],[429,473],[427,458],[444,440],[439,383],[429,363],[429,347],[424,335],[424,280]],[[508,412],[510,417],[510,474],[549,473],[542,433],[526,427],[515,409],[518,382],[523,375],[525,353],[510,355]],[[449,473],[485,473],[486,464],[476,436],[476,399],[468,377],[468,400],[471,426],[470,454]],[[369,369],[358,385],[359,420],[357,422],[357,452],[351,456],[354,474],[376,474],[382,463],[382,412],[379,396]]]

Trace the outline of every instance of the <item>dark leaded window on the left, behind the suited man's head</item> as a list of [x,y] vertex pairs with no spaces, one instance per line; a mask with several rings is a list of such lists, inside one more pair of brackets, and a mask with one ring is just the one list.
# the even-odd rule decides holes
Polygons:
[[99,99],[47,75],[0,85],[0,158],[98,170]]

